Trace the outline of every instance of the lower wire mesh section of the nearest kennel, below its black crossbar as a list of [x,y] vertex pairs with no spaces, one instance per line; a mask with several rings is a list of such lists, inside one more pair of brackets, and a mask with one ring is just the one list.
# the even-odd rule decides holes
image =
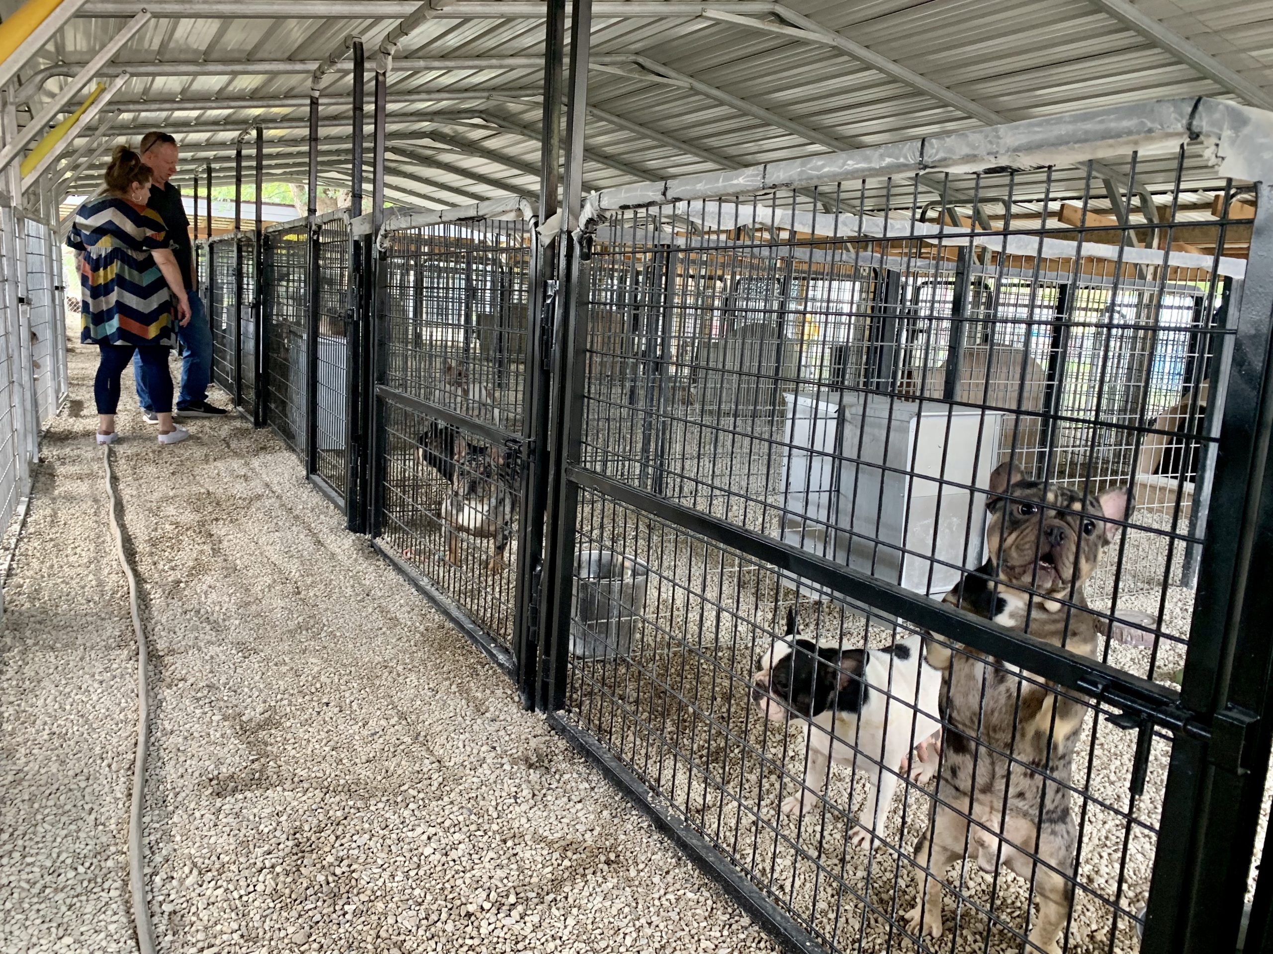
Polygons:
[[[1109,721],[1120,715],[1118,710],[1074,702],[1077,711],[1068,715],[1081,728],[1069,743],[1072,761],[1063,771],[1043,773],[1051,791],[1049,810],[1069,803],[1073,827],[1067,831],[1077,836],[1074,856],[1041,856],[1026,845],[1031,860],[1040,862],[1032,875],[1026,870],[1026,878],[1015,873],[1020,865],[1001,864],[994,870],[992,864],[987,873],[975,860],[952,864],[948,871],[936,864],[943,870],[938,901],[943,937],[920,941],[906,920],[925,869],[917,841],[934,805],[964,812],[966,805],[939,776],[918,784],[900,762],[871,762],[868,753],[882,743],[901,752],[899,758],[909,758],[914,744],[942,721],[938,689],[925,683],[928,700],[917,701],[914,667],[904,665],[913,660],[897,659],[890,673],[896,653],[872,654],[869,678],[878,684],[868,689],[877,692],[872,710],[881,715],[894,710],[889,728],[872,736],[863,722],[840,725],[831,750],[839,747],[849,763],[833,767],[825,790],[810,791],[803,813],[802,781],[806,775],[820,776],[820,768],[801,726],[785,720],[787,707],[798,701],[787,695],[792,688],[785,683],[756,695],[756,673],[765,668],[766,654],[785,645],[788,612],[796,613],[801,639],[816,641],[824,656],[847,663],[867,646],[900,644],[919,653],[920,631],[810,599],[789,589],[773,563],[603,492],[584,491],[579,508],[568,724],[628,767],[648,798],[700,833],[827,950],[1022,950],[1039,918],[1027,907],[1029,881],[1057,875],[1073,885],[1058,930],[1063,948],[1139,950],[1137,917],[1152,874],[1167,738],[1153,735],[1147,743],[1147,781],[1143,794],[1134,796],[1136,729]],[[625,563],[625,583],[593,579],[598,570],[619,576],[616,558]],[[617,611],[605,612],[607,605]],[[983,664],[969,654],[961,661]],[[1022,682],[1017,673],[999,663],[987,679],[997,687],[1012,683],[1022,697],[1017,705],[1027,706],[1043,682]],[[826,675],[854,678],[848,664],[829,664]],[[1009,707],[1013,701],[1009,695]],[[783,717],[766,717],[765,705]],[[822,733],[822,742],[833,738],[825,729],[815,731]],[[955,745],[951,733],[947,728],[946,758]],[[1029,786],[1034,770],[1022,743],[969,740],[967,745],[969,752],[960,754],[988,782],[980,806],[974,803],[975,812],[987,815],[984,827],[974,826],[971,837],[988,845],[990,833],[1002,827],[1001,818],[990,817],[1002,813],[990,782],[1002,784],[1007,776],[1009,784]],[[875,776],[881,771],[877,789]],[[821,777],[826,780],[826,773]],[[877,790],[891,795],[875,810],[871,842],[855,826],[867,817]],[[1012,841],[1025,840],[1018,834]]]

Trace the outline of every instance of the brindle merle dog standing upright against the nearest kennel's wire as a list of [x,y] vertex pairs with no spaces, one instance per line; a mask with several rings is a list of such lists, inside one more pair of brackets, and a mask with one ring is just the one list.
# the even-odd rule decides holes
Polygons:
[[[1132,506],[1125,487],[1083,496],[1067,487],[1045,488],[1023,480],[1015,464],[1001,464],[990,476],[987,500],[990,558],[943,602],[1095,658],[1097,619],[1082,611],[1083,583],[1118,533],[1111,522],[1130,516]],[[922,868],[915,869],[918,901],[906,915],[910,930],[919,930],[922,916],[923,932],[941,936],[937,876],[964,855],[970,815],[969,857],[983,871],[1004,864],[1034,879],[1039,917],[1030,943],[1049,954],[1059,951],[1057,935],[1073,902],[1073,885],[1063,873],[1073,871],[1077,840],[1067,786],[1087,706],[1051,683],[1044,688],[1040,681],[1020,678],[1020,669],[998,659],[966,646],[952,651],[937,637],[928,645],[928,659],[947,670],[948,729],[938,787],[946,804],[933,803],[928,831],[915,843]],[[1011,763],[1001,754],[1008,752]],[[1060,784],[1045,782],[1040,772]],[[1031,855],[1044,864],[1035,865]]]

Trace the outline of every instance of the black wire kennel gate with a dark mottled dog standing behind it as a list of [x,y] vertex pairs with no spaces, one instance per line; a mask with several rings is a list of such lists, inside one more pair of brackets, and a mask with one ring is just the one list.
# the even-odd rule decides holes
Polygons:
[[[396,211],[376,248],[370,533],[518,681],[535,565],[526,490],[541,445],[528,412],[538,354],[528,322],[537,254],[530,205]],[[454,529],[460,513],[484,506],[508,514],[502,558],[494,539]]]

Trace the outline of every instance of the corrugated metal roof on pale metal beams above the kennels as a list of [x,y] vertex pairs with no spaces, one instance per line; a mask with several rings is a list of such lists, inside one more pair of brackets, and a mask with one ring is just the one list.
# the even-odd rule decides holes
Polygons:
[[[17,5],[0,0],[0,11]],[[376,43],[418,6],[146,4],[151,19],[103,70],[136,74],[99,122],[113,114],[109,135],[134,141],[153,127],[177,135],[183,187],[195,163],[224,182],[234,137],[261,123],[267,178],[304,181],[313,67],[359,33],[370,73]],[[545,5],[434,6],[390,76],[387,196],[449,206],[532,193]],[[27,117],[140,9],[81,6],[22,74]],[[597,0],[592,42],[589,190],[1165,97],[1273,104],[1273,0]],[[349,69],[323,81],[330,184],[348,183]],[[74,184],[90,184],[95,165]]]

